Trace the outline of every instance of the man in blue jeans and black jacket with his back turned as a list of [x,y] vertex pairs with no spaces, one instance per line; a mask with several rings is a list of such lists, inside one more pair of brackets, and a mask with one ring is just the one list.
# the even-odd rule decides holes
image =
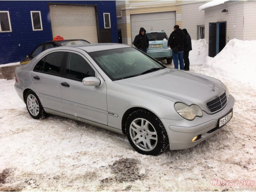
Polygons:
[[172,49],[174,68],[178,69],[180,62],[180,70],[184,70],[183,50],[185,34],[178,25],[175,25],[173,30],[168,39],[168,47]]

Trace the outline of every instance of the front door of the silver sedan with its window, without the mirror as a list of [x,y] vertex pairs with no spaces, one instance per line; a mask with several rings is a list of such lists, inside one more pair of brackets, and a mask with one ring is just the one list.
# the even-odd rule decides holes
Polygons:
[[[82,80],[89,76],[99,77],[100,86],[84,86]],[[60,84],[66,114],[108,124],[106,84],[82,54],[71,51],[66,53],[66,66]]]

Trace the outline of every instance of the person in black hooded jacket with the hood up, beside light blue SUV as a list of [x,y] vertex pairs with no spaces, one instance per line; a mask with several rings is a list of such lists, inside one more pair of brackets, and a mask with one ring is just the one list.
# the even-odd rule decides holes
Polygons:
[[147,53],[149,40],[146,35],[146,30],[143,27],[140,28],[139,34],[134,38],[133,44],[137,49]]

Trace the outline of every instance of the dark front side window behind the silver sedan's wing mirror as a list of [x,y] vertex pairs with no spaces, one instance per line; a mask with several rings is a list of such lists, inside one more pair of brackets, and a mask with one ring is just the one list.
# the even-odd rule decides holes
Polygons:
[[95,72],[88,62],[82,56],[69,52],[66,63],[66,78],[82,81],[83,78],[90,76],[95,76]]

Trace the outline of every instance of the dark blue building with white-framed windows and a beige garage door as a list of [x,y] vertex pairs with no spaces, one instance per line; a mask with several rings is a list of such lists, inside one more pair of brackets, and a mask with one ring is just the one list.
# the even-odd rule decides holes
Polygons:
[[115,1],[0,1],[0,64],[18,62],[57,35],[118,42]]

